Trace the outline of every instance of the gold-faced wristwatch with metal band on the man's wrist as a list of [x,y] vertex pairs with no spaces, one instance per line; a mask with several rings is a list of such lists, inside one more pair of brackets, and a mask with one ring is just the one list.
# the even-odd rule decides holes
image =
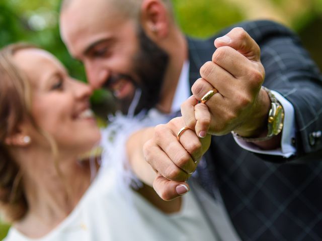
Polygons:
[[284,109],[281,103],[276,99],[275,95],[268,88],[262,86],[262,88],[267,92],[268,96],[271,99],[271,109],[268,113],[268,122],[267,129],[268,133],[266,137],[260,138],[247,138],[241,137],[235,132],[231,132],[232,135],[240,140],[246,142],[263,142],[271,139],[274,136],[277,136],[283,130],[284,124]]

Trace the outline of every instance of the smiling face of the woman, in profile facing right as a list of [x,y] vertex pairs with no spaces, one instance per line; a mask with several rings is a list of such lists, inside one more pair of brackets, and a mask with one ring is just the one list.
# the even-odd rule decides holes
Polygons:
[[[44,50],[20,50],[14,60],[31,83],[31,114],[36,125],[55,140],[59,151],[91,150],[100,139],[100,131],[90,109],[90,86],[71,78]],[[40,148],[48,148],[48,142],[36,132],[31,140]]]

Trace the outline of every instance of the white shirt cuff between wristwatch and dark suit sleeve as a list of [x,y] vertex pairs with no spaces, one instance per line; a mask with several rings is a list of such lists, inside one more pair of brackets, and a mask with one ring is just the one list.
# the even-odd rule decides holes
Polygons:
[[295,137],[295,114],[293,105],[285,99],[280,93],[271,90],[276,99],[281,103],[284,109],[284,124],[282,130],[281,147],[274,150],[262,150],[251,142],[246,142],[234,137],[235,142],[245,150],[250,152],[275,155],[288,158],[295,154],[296,149],[292,145],[292,139]]

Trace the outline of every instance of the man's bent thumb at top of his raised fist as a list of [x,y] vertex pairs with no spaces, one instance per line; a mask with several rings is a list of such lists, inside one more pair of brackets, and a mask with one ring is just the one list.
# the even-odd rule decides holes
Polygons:
[[215,39],[214,44],[216,48],[229,46],[249,60],[260,61],[260,47],[243,28],[233,28],[228,34]]

